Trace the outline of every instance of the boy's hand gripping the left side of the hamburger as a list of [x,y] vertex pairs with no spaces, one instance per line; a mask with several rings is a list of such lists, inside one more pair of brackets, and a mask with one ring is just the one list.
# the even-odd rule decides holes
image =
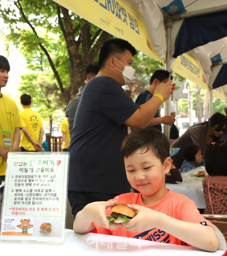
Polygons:
[[117,204],[117,200],[110,202],[94,202],[86,205],[84,210],[89,218],[92,219],[100,227],[107,228],[108,230],[116,230],[121,226],[121,223],[110,224],[106,219],[106,209]]

